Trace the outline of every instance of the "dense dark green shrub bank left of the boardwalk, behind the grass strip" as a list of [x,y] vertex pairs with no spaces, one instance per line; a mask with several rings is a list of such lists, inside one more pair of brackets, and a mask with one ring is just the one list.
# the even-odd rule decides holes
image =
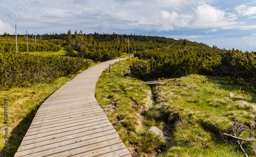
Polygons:
[[58,77],[87,69],[91,64],[81,58],[0,53],[0,89],[50,82]]

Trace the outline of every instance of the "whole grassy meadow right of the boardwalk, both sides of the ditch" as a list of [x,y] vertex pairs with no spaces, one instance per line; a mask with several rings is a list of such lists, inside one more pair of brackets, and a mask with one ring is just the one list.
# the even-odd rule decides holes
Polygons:
[[[232,134],[229,129],[237,121],[248,127],[241,138],[252,136],[254,87],[229,77],[192,74],[151,88],[132,77],[129,62],[115,64],[111,73],[102,74],[96,99],[132,155],[243,156],[239,145],[222,133]],[[163,130],[165,139],[147,133],[151,126]],[[172,139],[169,144],[166,138]],[[242,146],[254,156],[255,144]]]

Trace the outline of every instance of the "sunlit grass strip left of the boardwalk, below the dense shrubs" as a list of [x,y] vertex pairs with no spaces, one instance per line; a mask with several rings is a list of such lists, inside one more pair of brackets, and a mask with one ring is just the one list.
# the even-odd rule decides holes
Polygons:
[[[37,109],[54,91],[70,81],[70,77],[60,77],[50,83],[35,83],[27,85],[26,87],[13,87],[8,91],[1,91],[0,120],[2,122],[4,122],[4,99],[8,99],[7,125],[9,125],[9,150],[8,153],[0,151],[0,156],[14,155],[25,136]],[[0,124],[0,130],[3,130],[4,125],[6,124]],[[5,140],[4,131],[1,131],[0,150],[3,150]]]

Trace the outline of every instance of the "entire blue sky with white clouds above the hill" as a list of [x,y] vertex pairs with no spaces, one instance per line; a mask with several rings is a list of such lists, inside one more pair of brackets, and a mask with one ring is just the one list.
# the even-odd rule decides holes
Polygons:
[[256,0],[0,0],[0,34],[164,36],[256,51]]

